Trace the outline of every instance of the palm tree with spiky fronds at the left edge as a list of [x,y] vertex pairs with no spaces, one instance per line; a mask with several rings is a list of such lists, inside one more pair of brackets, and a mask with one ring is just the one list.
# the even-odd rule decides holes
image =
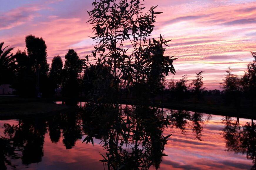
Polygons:
[[[13,53],[11,51],[14,48],[8,48],[9,46],[6,46],[4,49],[2,49],[4,45],[4,42],[0,43],[0,85],[4,83],[5,81],[8,81],[7,79],[10,79],[10,73],[13,73],[13,66],[15,64],[15,59],[13,56]],[[10,54],[11,53],[11,54]]]

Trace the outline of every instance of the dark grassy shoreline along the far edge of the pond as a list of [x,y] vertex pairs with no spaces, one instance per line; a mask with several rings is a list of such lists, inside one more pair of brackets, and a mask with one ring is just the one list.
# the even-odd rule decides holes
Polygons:
[[[6,97],[0,96],[0,120],[4,119],[16,119],[32,116],[49,116],[59,112],[70,111],[69,106],[54,104],[47,102],[46,99],[34,99],[34,98],[21,98],[21,97]],[[52,101],[54,101],[52,99]],[[61,101],[61,100],[55,100]],[[83,100],[81,100],[83,101]],[[79,102],[81,102],[79,101]],[[88,102],[88,101],[83,101]],[[256,114],[253,114],[255,108],[250,108],[246,105],[241,105],[240,112],[235,109],[234,105],[224,105],[221,103],[205,104],[205,103],[193,103],[193,102],[155,102],[155,103],[140,103],[134,104],[132,100],[123,100],[120,104],[128,105],[149,105],[152,107],[160,107],[165,109],[174,110],[186,110],[193,112],[200,112],[205,114],[215,114],[220,116],[239,117],[245,119],[255,119]]]

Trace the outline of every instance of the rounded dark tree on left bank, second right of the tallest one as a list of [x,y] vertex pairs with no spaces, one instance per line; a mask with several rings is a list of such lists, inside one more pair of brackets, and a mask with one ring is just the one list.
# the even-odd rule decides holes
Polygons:
[[69,49],[65,55],[63,68],[63,96],[68,99],[76,99],[79,93],[79,75],[82,72],[83,60],[79,59],[75,50]]

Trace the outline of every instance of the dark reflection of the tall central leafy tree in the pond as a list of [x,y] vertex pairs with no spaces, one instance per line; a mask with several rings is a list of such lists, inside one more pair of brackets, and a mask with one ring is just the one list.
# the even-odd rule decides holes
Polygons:
[[85,115],[90,116],[83,120],[87,134],[84,142],[93,142],[94,134],[103,139],[101,146],[106,154],[101,153],[101,161],[108,169],[148,169],[152,165],[159,168],[162,157],[167,156],[163,150],[170,137],[162,135],[169,121],[160,109],[98,105],[93,114],[90,111],[86,110]]

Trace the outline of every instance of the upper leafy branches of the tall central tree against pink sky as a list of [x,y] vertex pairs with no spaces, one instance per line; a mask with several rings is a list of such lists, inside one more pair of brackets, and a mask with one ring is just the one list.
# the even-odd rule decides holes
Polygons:
[[95,0],[92,5],[93,10],[88,12],[88,23],[95,32],[92,39],[96,42],[92,56],[96,65],[106,64],[111,68],[115,87],[146,83],[154,90],[163,74],[175,73],[172,65],[175,59],[164,56],[163,45],[170,40],[161,35],[160,40],[147,39],[160,14],[154,11],[156,6],[144,13],[140,1]]

